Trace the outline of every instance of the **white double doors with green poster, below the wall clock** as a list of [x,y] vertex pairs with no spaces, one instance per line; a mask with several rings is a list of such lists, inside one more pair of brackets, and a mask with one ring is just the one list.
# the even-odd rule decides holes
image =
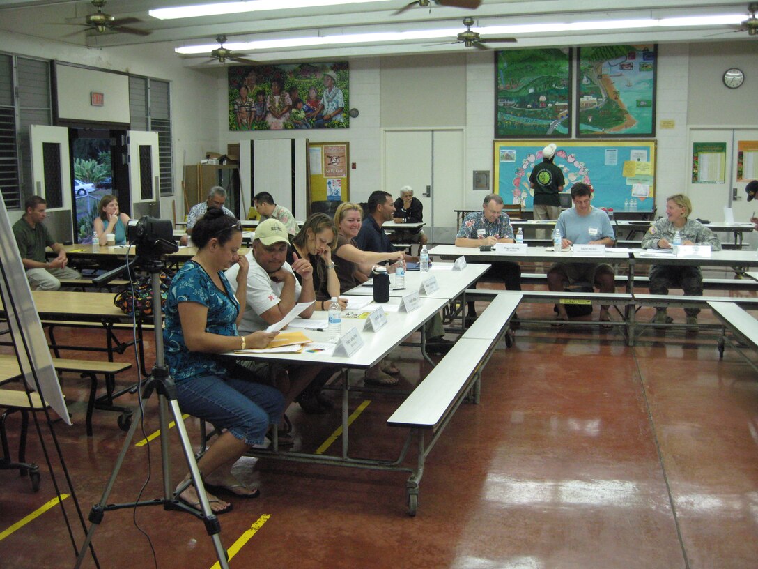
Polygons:
[[[717,145],[717,146],[708,146]],[[697,181],[690,176],[688,195],[693,203],[693,215],[713,222],[724,220],[724,208],[731,207],[735,222],[747,222],[753,212],[758,212],[758,203],[748,203],[745,194],[750,170],[754,168],[758,152],[758,129],[754,128],[691,128],[688,146],[688,168],[697,159],[699,168],[703,158],[709,159],[712,174],[702,175],[706,181]],[[745,149],[753,149],[748,150]],[[710,150],[696,156],[698,149]],[[723,154],[717,152],[724,149]],[[723,162],[723,165],[722,165]]]

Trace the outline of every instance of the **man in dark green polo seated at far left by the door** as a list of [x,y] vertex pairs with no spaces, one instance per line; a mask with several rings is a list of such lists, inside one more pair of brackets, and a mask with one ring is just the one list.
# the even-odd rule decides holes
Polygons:
[[[63,245],[56,243],[42,225],[47,217],[47,202],[39,196],[31,196],[24,207],[26,213],[14,223],[13,234],[32,290],[57,291],[61,288],[58,279],[82,278],[79,272],[68,268]],[[45,247],[50,247],[58,256],[48,261]]]

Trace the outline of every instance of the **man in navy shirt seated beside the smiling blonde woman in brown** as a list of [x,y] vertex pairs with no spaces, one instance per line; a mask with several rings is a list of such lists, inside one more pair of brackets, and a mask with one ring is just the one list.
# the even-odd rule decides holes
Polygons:
[[[396,251],[390,238],[381,228],[384,222],[389,222],[395,213],[395,205],[392,195],[377,190],[368,196],[368,215],[361,224],[361,231],[356,237],[356,245],[364,251],[374,253],[394,253]],[[406,261],[418,262],[418,257],[406,255]],[[390,271],[394,266],[390,266]],[[437,314],[426,324],[427,351],[431,354],[446,354],[451,347],[452,341],[443,338],[445,329],[442,325],[442,317]]]

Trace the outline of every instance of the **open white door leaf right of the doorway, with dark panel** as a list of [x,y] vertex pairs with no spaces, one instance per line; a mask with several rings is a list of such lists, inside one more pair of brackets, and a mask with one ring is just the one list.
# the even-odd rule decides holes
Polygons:
[[128,138],[132,217],[160,217],[158,133],[130,130]]

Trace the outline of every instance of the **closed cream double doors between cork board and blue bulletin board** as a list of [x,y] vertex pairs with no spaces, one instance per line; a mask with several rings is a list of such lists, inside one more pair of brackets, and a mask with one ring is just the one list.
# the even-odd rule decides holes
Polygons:
[[455,238],[453,203],[462,200],[464,137],[462,129],[386,130],[383,189],[397,199],[410,186],[424,206],[424,232],[430,240]]

